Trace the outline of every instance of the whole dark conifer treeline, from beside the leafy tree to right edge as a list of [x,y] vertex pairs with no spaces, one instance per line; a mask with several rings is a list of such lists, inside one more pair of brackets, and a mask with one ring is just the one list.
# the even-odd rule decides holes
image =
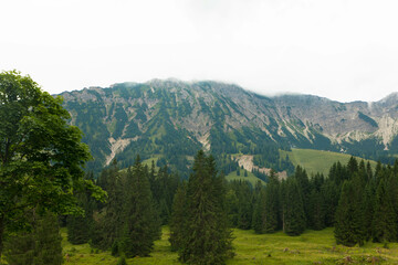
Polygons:
[[107,202],[80,194],[86,215],[67,218],[69,240],[115,256],[145,256],[160,225],[168,224],[172,251],[189,264],[223,264],[232,256],[229,227],[294,236],[334,226],[336,242],[347,246],[398,241],[398,162],[371,169],[350,158],[334,163],[327,177],[308,177],[296,167],[283,180],[271,171],[266,186],[255,187],[227,182],[216,168],[199,151],[189,180],[181,182],[166,166],[147,167],[139,157],[128,170],[114,161],[97,179]]

